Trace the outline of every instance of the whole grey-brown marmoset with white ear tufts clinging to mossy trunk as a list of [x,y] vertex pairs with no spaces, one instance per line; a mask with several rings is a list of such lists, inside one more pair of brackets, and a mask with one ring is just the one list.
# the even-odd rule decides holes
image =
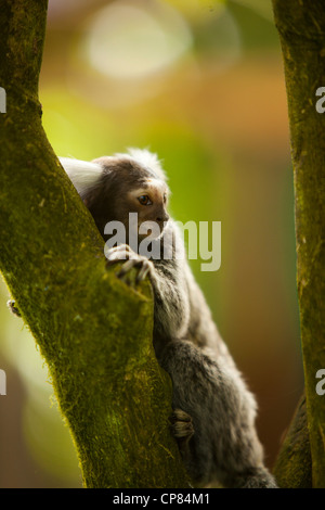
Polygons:
[[[169,189],[157,156],[132,149],[91,163],[69,158],[61,163],[104,240],[105,233],[112,234],[105,231],[110,221],[126,227],[125,242],[106,251],[108,265],[125,260],[119,277],[136,267],[139,281],[146,276],[151,280],[154,348],[172,380],[171,429],[191,477],[200,486],[276,487],[264,467],[255,428],[256,400],[184,256],[183,242],[167,213]],[[138,214],[133,227],[130,213]],[[136,246],[129,244],[130,233],[139,233],[146,221],[159,227],[156,235],[150,230],[152,247],[160,255],[156,258],[136,253]],[[140,240],[145,238],[139,234]],[[164,243],[169,257],[162,256]]]

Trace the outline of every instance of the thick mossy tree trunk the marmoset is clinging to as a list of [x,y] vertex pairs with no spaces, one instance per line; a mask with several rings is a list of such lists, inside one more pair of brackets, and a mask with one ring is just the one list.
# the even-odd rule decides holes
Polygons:
[[87,487],[187,487],[170,436],[170,381],[153,299],[105,267],[103,241],[41,125],[46,0],[2,0],[0,269],[29,326]]

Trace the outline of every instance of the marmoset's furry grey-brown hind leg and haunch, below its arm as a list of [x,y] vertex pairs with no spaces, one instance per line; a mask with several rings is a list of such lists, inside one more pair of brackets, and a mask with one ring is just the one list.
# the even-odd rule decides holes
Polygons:
[[235,367],[187,341],[170,342],[160,365],[173,383],[174,409],[193,420],[184,463],[199,485],[275,487],[255,429],[256,403]]

